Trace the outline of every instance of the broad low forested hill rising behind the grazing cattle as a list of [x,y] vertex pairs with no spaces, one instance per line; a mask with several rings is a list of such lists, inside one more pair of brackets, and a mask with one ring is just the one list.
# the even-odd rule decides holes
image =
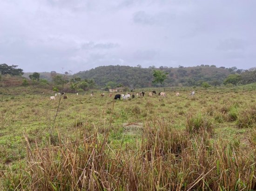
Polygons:
[[240,73],[236,67],[217,68],[215,66],[196,66],[196,67],[179,67],[179,68],[141,68],[130,66],[100,66],[95,69],[80,71],[74,76],[83,79],[94,79],[94,81],[104,87],[108,82],[121,83],[128,87],[150,87],[153,85],[153,70],[164,70],[168,72],[168,79],[164,81],[165,86],[194,86],[202,82],[208,82],[212,85],[219,85],[223,80],[232,73]]

